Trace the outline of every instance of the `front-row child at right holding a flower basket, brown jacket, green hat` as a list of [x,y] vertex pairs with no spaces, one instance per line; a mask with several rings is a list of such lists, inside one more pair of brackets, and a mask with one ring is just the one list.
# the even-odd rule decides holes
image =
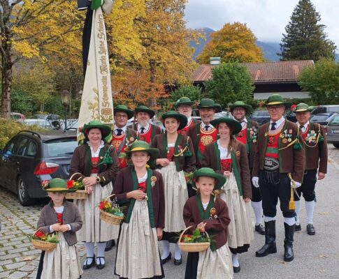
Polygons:
[[231,252],[226,244],[229,212],[226,203],[213,193],[222,188],[226,178],[203,167],[194,172],[193,179],[198,193],[185,204],[185,224],[192,226],[191,233],[196,228],[201,233],[208,232],[211,243],[203,252],[188,253],[185,279],[231,279]]

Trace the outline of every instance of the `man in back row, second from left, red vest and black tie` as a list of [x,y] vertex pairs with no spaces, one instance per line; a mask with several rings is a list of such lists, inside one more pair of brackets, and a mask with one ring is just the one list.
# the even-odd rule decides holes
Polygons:
[[154,115],[154,110],[145,105],[139,105],[134,110],[134,117],[138,123],[133,125],[133,129],[137,132],[138,140],[143,140],[147,144],[152,142],[154,135],[161,134],[161,128],[150,123]]

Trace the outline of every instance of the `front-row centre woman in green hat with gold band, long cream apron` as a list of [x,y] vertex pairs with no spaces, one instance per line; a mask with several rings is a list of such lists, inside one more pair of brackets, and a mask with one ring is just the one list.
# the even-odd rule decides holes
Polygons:
[[133,165],[121,169],[115,181],[112,199],[127,207],[115,257],[120,278],[165,277],[158,248],[165,223],[164,181],[147,167],[158,152],[147,142],[131,144],[125,153]]

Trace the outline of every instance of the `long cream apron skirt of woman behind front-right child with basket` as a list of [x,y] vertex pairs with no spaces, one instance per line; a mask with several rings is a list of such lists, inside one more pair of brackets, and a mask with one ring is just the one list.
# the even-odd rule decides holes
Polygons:
[[236,176],[231,172],[226,183],[222,186],[224,193],[219,197],[226,202],[229,208],[229,223],[227,231],[227,244],[231,251],[247,252],[251,241],[254,239],[252,229],[251,204],[245,202],[243,196],[239,195]]

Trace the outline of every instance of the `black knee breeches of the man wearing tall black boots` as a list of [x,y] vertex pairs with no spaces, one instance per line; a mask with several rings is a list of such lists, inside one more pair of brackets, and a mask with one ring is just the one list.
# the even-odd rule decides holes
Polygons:
[[291,183],[287,174],[261,171],[259,175],[259,185],[263,198],[264,216],[275,217],[277,215],[277,199],[280,200],[282,216],[293,218],[296,216],[294,210],[289,210],[289,200],[291,197]]

